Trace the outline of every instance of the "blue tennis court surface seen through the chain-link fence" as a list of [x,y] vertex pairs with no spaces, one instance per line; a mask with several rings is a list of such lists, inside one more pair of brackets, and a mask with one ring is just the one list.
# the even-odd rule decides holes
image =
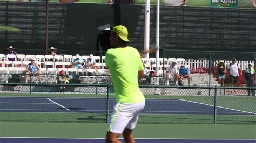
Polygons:
[[[106,113],[107,106],[106,99],[103,98],[0,97],[0,99],[1,112]],[[115,99],[110,99],[110,112],[112,112],[115,102]],[[146,99],[146,105],[142,113],[212,115],[213,112],[213,105],[184,99]],[[217,106],[217,113],[218,115],[255,115],[253,112],[220,106]]]

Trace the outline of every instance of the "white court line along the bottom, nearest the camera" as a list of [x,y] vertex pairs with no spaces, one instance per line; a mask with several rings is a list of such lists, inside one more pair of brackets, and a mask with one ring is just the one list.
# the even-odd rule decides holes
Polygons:
[[[33,139],[105,139],[105,138],[55,138],[55,137],[0,137],[0,138],[33,138]],[[119,138],[123,139],[123,138]],[[189,138],[135,138],[138,140],[256,140],[256,139],[189,139]]]

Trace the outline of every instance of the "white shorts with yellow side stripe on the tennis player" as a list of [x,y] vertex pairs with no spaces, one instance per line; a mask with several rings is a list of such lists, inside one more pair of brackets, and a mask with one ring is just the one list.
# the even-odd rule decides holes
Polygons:
[[140,103],[117,103],[107,127],[108,132],[122,134],[125,128],[136,127],[139,113],[144,109],[145,101]]

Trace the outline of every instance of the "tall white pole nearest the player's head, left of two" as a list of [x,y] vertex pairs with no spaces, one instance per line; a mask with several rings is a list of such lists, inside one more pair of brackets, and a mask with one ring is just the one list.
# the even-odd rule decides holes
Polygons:
[[[150,43],[150,0],[145,1],[145,23],[144,23],[144,51],[149,51]],[[146,53],[146,58],[149,58],[149,53]]]

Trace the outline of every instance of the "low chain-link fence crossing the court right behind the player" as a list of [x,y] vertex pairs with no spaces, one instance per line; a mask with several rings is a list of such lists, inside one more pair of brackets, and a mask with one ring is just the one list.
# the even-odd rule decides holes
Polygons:
[[[113,85],[0,84],[0,120],[106,123]],[[255,124],[255,96],[231,87],[141,85],[146,105],[139,123]],[[236,90],[236,91],[234,91]]]

